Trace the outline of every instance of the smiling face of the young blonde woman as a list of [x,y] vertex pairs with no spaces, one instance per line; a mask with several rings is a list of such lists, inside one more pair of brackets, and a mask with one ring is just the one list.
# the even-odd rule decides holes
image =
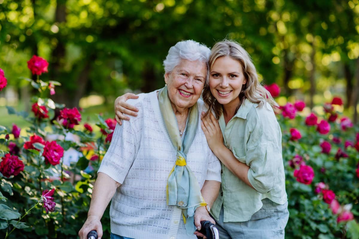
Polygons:
[[209,74],[209,87],[220,104],[237,107],[238,96],[245,83],[241,62],[228,56],[214,61]]

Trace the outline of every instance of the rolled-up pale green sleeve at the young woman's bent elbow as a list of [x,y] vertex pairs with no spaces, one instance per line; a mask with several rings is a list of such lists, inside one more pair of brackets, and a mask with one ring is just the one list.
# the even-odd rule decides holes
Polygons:
[[246,153],[248,181],[260,193],[270,192],[276,185],[280,164],[283,164],[278,145],[267,142],[250,148]]

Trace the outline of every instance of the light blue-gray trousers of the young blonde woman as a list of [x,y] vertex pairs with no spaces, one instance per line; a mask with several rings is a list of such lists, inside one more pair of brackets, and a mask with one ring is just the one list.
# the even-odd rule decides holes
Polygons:
[[283,205],[269,199],[262,200],[263,206],[249,221],[223,222],[223,206],[216,221],[220,239],[284,239],[284,228],[288,222],[288,202]]

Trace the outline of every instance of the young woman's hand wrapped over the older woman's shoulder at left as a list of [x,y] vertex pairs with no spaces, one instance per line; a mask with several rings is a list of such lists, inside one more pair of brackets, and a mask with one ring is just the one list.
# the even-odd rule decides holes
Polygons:
[[128,99],[138,99],[138,95],[126,93],[125,95],[118,96],[115,100],[115,119],[119,125],[122,125],[122,120],[130,120],[130,117],[123,114],[137,116],[138,109],[133,105],[127,104]]

